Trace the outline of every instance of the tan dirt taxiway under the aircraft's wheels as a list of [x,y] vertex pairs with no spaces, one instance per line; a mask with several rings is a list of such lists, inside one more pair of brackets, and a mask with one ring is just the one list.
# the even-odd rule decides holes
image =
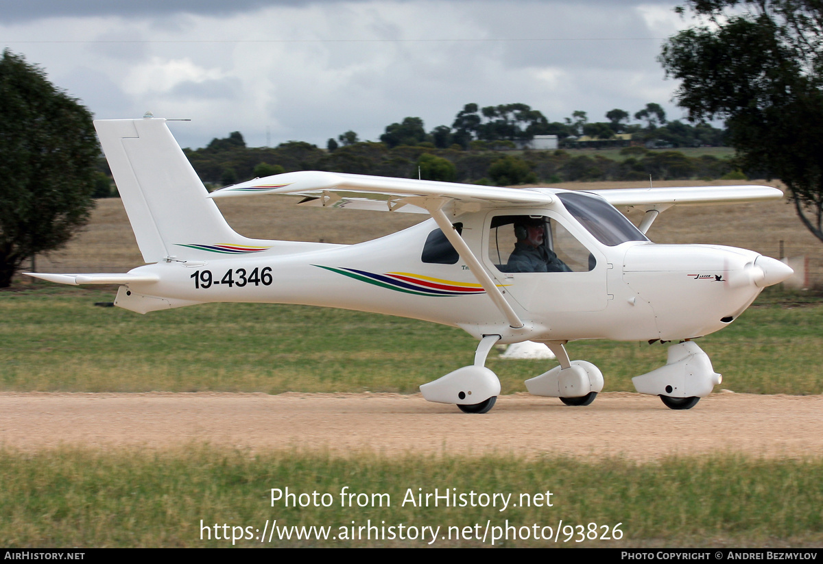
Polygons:
[[718,393],[687,411],[638,394],[606,393],[588,407],[531,395],[463,414],[420,395],[0,394],[0,443],[165,449],[207,443],[263,451],[363,450],[486,455],[666,455],[737,451],[765,457],[823,452],[823,396]]

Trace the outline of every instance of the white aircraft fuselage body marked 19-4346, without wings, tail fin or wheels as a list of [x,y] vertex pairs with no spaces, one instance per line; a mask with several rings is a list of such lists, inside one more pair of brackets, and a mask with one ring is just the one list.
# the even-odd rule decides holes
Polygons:
[[187,261],[131,270],[156,274],[159,280],[129,284],[118,305],[146,312],[188,303],[299,303],[434,321],[478,338],[500,334],[503,342],[676,340],[718,331],[761,289],[752,278],[760,257],[756,252],[648,241],[608,246],[556,210],[507,209],[504,214],[551,216],[580,243],[591,266],[584,271],[504,272],[489,249],[490,225],[501,212],[454,218],[523,320],[519,329],[504,322],[459,257],[453,264],[423,261],[427,238],[438,231],[433,220],[373,241],[315,244],[306,252],[279,253],[276,242],[242,256],[204,249]]

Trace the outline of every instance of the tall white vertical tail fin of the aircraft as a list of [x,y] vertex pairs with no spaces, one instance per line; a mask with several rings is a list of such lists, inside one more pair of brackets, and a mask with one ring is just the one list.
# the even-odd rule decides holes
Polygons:
[[95,128],[146,262],[185,259],[205,244],[260,243],[226,223],[165,119],[98,120]]

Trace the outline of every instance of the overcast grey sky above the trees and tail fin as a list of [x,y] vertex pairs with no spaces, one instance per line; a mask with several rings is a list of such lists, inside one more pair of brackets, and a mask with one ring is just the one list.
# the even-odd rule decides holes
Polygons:
[[688,25],[677,0],[0,0],[0,44],[44,68],[95,118],[146,110],[182,146],[376,141],[463,105],[522,102],[562,121],[662,104],[656,58]]

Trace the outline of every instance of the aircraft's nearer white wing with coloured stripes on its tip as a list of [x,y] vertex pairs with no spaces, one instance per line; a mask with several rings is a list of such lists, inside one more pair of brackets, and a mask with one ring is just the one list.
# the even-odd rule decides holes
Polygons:
[[357,210],[429,213],[416,204],[421,199],[454,201],[458,206],[548,206],[556,201],[540,190],[442,183],[412,178],[387,178],[365,174],[327,173],[314,170],[255,178],[212,192],[209,197],[249,194],[304,196],[303,206]]

